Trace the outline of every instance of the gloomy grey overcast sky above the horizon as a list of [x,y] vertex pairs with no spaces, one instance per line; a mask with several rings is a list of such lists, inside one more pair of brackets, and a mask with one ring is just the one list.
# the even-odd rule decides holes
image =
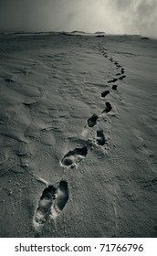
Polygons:
[[157,0],[0,0],[0,31],[19,30],[157,37]]

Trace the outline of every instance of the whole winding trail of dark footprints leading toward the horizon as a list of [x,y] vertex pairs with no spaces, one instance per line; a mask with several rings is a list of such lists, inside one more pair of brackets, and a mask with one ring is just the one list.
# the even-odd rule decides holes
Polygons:
[[[125,71],[118,63],[112,58],[108,57],[108,54],[104,49],[102,49],[102,54],[105,58],[109,59],[110,62],[113,62],[117,69],[120,69],[120,72],[116,74],[117,78],[113,78],[108,81],[111,84],[111,91],[102,91],[101,98],[107,97],[108,94],[112,91],[117,91],[118,85],[115,84],[118,80],[123,80],[126,78]],[[102,113],[109,113],[112,110],[110,101],[105,102],[105,108],[102,110]],[[93,128],[97,125],[99,116],[96,113],[93,113],[91,117],[87,120],[87,125],[85,127]],[[96,144],[99,146],[105,145],[107,142],[103,130],[96,132]],[[75,167],[88,155],[88,146],[77,147],[74,150],[69,151],[60,161],[60,165],[65,167]],[[49,185],[46,187],[37,203],[37,208],[34,215],[34,227],[38,231],[44,227],[47,222],[47,219],[57,219],[58,215],[62,212],[68,202],[68,182],[61,180],[57,185]]]

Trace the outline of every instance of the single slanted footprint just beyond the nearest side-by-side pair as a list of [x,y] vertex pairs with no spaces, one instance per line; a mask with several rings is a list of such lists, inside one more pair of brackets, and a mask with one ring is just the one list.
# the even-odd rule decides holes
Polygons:
[[83,146],[81,148],[77,147],[73,151],[69,151],[63,159],[61,160],[61,164],[63,166],[76,165],[80,161],[82,161],[86,155],[88,154],[87,146]]

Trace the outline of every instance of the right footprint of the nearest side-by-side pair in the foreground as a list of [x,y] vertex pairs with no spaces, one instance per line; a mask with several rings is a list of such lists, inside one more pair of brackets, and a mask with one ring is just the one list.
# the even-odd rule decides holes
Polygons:
[[50,217],[56,219],[68,202],[68,182],[61,180],[56,191],[56,200],[51,207]]

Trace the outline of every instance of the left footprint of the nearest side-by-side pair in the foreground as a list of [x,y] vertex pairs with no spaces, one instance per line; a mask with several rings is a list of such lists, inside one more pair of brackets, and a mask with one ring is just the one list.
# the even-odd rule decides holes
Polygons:
[[44,189],[42,196],[38,202],[37,211],[35,214],[35,222],[39,225],[44,225],[48,219],[50,208],[55,199],[56,187],[48,186]]

